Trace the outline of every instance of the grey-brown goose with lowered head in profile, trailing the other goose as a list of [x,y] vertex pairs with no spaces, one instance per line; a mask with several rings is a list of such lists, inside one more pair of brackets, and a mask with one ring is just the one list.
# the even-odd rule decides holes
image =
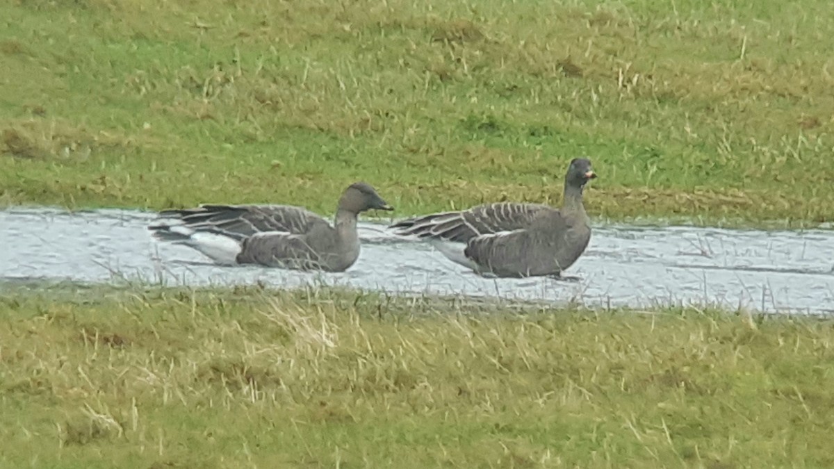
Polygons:
[[255,264],[292,270],[341,272],[359,257],[359,213],[393,210],[370,184],[344,190],[334,224],[293,205],[214,205],[170,209],[148,226],[153,237],[186,245],[219,265]]

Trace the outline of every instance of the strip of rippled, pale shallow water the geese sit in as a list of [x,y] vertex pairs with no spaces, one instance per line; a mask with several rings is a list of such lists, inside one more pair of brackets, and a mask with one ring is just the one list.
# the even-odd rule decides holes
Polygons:
[[183,246],[154,241],[153,214],[0,211],[0,289],[21,280],[165,285],[342,285],[395,293],[505,300],[575,301],[641,308],[712,305],[796,313],[834,311],[834,231],[761,231],[688,226],[595,227],[588,250],[568,270],[579,281],[484,279],[429,245],[360,224],[357,263],[340,274],[257,266],[222,267]]

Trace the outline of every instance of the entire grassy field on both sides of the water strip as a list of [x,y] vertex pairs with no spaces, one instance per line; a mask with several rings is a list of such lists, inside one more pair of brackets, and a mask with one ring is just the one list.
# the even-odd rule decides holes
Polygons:
[[[834,221],[830,2],[0,2],[0,206]],[[0,284],[3,467],[834,466],[831,320]]]

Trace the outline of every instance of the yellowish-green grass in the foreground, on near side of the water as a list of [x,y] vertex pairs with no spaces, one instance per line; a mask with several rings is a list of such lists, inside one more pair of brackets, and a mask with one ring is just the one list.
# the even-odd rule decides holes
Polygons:
[[0,300],[0,466],[834,464],[830,320],[64,294]]

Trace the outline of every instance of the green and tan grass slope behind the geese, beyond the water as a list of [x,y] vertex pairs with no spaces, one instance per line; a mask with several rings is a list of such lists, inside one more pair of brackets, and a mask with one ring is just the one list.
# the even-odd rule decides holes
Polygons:
[[0,203],[834,216],[822,0],[0,5]]

